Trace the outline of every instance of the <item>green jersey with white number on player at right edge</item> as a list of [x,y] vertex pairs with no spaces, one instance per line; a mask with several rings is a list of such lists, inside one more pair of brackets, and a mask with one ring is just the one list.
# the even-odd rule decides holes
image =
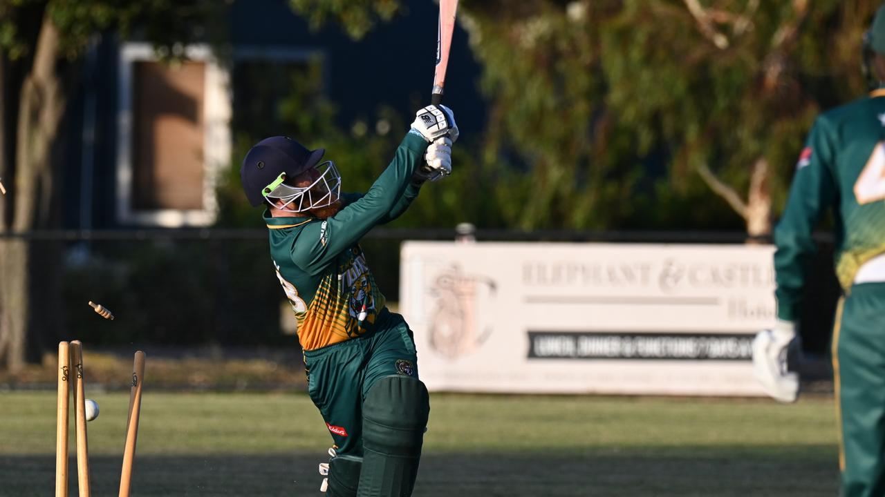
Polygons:
[[835,212],[836,274],[851,286],[861,264],[885,252],[885,89],[814,122],[774,230],[778,317],[797,320],[812,229]]

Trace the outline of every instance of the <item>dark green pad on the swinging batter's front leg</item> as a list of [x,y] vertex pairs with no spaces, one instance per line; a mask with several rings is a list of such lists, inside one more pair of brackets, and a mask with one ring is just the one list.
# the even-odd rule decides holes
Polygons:
[[419,379],[392,375],[369,389],[363,401],[359,497],[412,495],[429,414],[427,387]]

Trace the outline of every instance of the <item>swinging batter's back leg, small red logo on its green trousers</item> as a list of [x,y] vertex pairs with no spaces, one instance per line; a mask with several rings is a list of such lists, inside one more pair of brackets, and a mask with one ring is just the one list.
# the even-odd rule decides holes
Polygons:
[[320,464],[328,497],[357,495],[363,455],[359,366],[367,345],[366,340],[349,340],[304,354],[308,394],[335,443],[329,462]]

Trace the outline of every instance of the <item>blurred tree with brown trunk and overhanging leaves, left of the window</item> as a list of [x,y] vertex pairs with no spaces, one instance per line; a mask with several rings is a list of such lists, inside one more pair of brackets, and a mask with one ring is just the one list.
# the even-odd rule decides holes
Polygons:
[[[0,178],[9,190],[0,232],[59,226],[59,152],[89,43],[139,26],[173,57],[213,8],[200,0],[0,0]],[[38,360],[57,338],[61,256],[58,243],[0,241],[0,367]]]

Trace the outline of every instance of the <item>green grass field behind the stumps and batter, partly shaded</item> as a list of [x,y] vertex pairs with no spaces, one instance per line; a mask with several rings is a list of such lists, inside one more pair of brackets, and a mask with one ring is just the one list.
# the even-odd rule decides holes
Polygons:
[[[93,495],[116,495],[127,393],[89,393]],[[4,392],[0,495],[50,495],[54,391]],[[416,496],[835,495],[831,398],[433,394]],[[72,409],[73,414],[73,409]],[[72,417],[73,419],[73,417]],[[133,495],[319,496],[331,441],[305,394],[145,390]],[[76,494],[73,423],[70,494]]]

